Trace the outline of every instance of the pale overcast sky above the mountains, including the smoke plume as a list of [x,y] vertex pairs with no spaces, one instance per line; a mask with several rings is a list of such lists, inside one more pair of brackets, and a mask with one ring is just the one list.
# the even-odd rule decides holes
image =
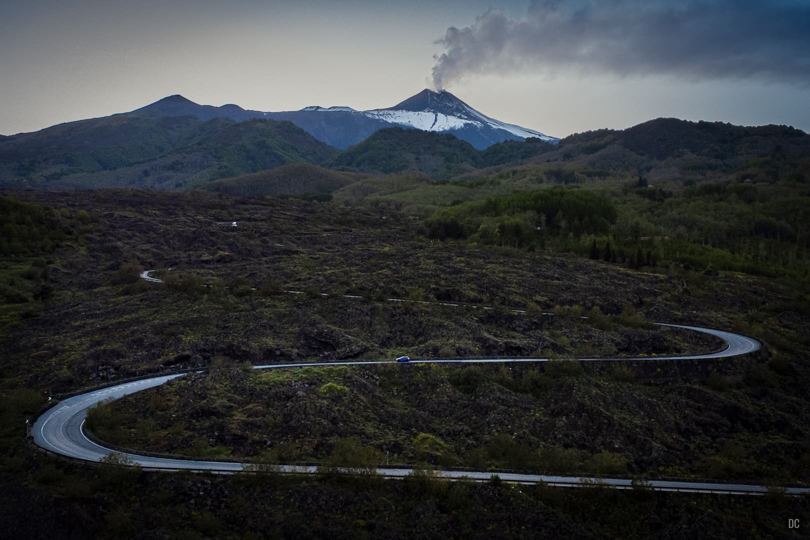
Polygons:
[[810,131],[810,2],[0,0],[0,134],[181,94],[262,111],[444,87],[556,137],[655,117]]

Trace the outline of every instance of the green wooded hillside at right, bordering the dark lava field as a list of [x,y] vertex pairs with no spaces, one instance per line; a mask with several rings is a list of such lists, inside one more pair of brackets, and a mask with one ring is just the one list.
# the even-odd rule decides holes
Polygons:
[[[394,146],[395,136],[411,134],[386,136]],[[375,138],[367,142],[357,148],[383,148]],[[363,180],[335,198],[405,208],[425,218],[431,239],[576,253],[631,268],[808,278],[810,137],[804,132],[659,119],[544,146],[505,142],[477,159],[466,156],[488,168],[450,179],[399,173]],[[539,152],[518,164],[484,160],[531,147]],[[586,201],[595,206],[582,206]]]

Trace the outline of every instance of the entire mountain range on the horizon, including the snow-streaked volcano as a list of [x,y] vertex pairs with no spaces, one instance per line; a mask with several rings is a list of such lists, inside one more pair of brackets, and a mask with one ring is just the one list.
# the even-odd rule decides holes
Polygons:
[[[218,178],[294,163],[360,174],[416,171],[436,179],[450,179],[478,174],[478,169],[538,164],[541,159],[552,164],[578,162],[577,167],[600,175],[617,166],[632,165],[639,175],[654,181],[691,178],[689,171],[697,167],[713,172],[736,171],[740,177],[756,181],[762,169],[757,164],[765,163],[757,159],[766,159],[769,164],[765,176],[778,178],[784,172],[779,165],[782,156],[799,159],[810,155],[810,137],[788,126],[736,126],[676,118],[657,118],[626,130],[573,134],[554,143],[539,137],[520,141],[507,138],[480,150],[483,145],[470,142],[471,137],[481,135],[471,122],[491,122],[489,127],[496,130],[497,121],[450,92],[427,89],[394,108],[370,113],[347,107],[305,109],[273,113],[271,118],[236,104],[198,105],[175,94],[130,113],[0,137],[0,186],[194,189]],[[394,124],[374,116],[385,113],[416,115],[414,118],[430,121],[427,127],[433,130],[414,129],[412,125]],[[450,115],[455,116],[446,120]],[[238,120],[242,117],[246,120]],[[339,122],[335,123],[334,118]],[[437,128],[440,121],[458,121],[459,130],[467,130],[468,137]],[[302,124],[310,130],[302,128]],[[340,151],[315,138],[314,129],[322,130],[327,140],[339,140],[347,131],[362,140]],[[667,162],[659,172],[646,174],[655,168],[655,163],[667,159],[674,161]],[[559,168],[549,167],[555,166]],[[273,189],[291,189],[292,180],[307,170],[315,171],[288,168],[273,176]],[[560,171],[568,180],[576,176],[573,168]],[[799,168],[791,168],[787,174],[796,181],[804,181],[806,176]],[[314,176],[328,175],[318,171]],[[329,182],[335,179],[342,181],[343,177],[330,177]]]

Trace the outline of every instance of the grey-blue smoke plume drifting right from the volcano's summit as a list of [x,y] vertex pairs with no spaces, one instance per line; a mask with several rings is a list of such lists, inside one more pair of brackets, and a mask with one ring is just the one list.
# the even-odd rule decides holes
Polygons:
[[760,0],[532,2],[490,10],[437,41],[433,83],[468,74],[672,74],[810,83],[810,5]]

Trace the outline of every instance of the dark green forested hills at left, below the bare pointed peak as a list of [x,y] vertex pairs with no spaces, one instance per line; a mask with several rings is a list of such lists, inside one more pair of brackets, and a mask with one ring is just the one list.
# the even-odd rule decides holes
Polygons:
[[0,141],[0,185],[189,189],[337,150],[291,122],[116,115]]

